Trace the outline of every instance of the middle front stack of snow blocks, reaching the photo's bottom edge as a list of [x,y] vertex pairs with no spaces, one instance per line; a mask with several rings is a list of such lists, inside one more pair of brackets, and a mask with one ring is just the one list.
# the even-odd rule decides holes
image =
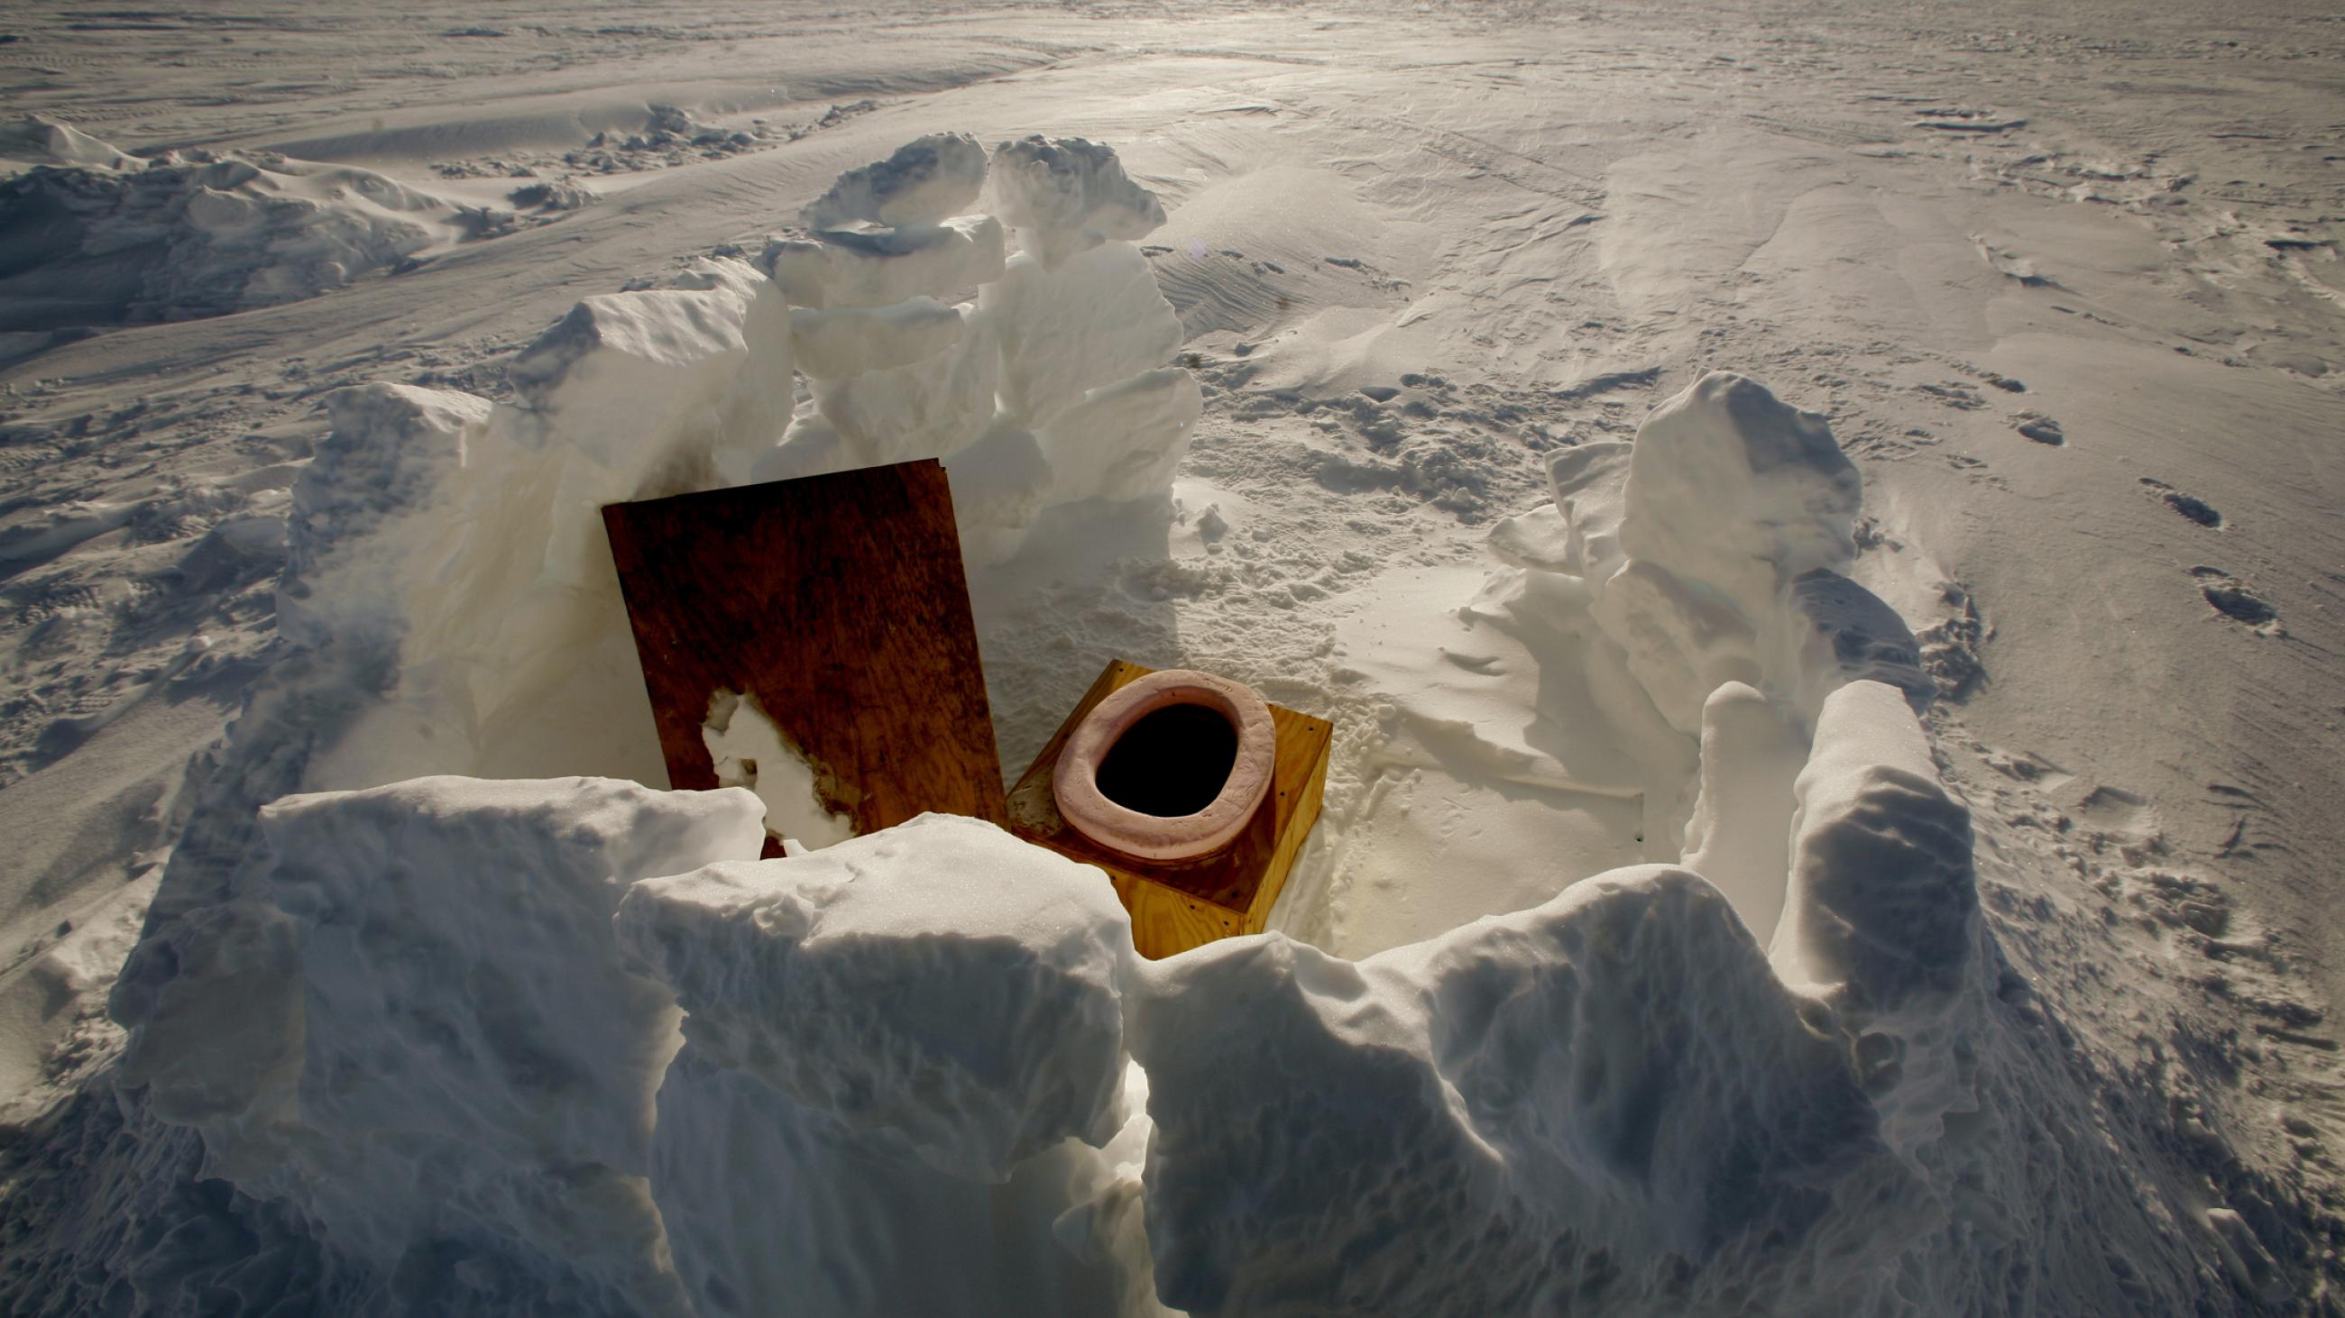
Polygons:
[[[675,987],[652,1196],[699,1313],[1114,1313],[1130,926],[1097,870],[929,814],[638,884]],[[1144,1264],[1140,1264],[1144,1266]]]

